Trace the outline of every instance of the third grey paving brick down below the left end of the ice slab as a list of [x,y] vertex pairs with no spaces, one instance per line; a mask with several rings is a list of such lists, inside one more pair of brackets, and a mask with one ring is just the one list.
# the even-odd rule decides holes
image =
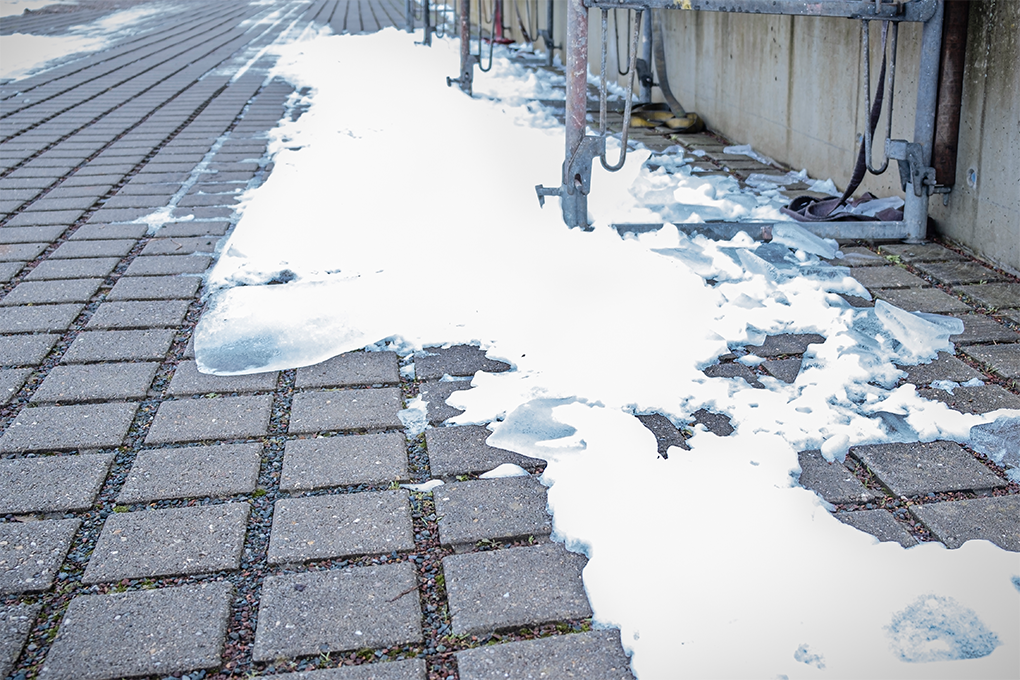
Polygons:
[[117,503],[251,493],[258,483],[260,443],[143,451]]

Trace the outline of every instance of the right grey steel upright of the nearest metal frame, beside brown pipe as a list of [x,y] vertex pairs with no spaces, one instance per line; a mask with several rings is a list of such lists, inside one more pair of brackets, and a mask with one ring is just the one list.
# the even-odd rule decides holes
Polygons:
[[[935,106],[938,100],[938,57],[942,43],[942,0],[936,0],[935,13],[924,22],[921,33],[921,67],[917,75],[917,112],[914,115],[914,142],[921,146],[921,167],[931,166],[931,147],[935,137]],[[924,241],[928,229],[928,187],[917,192],[907,185],[903,220],[907,243]],[[918,196],[920,194],[920,196]]]

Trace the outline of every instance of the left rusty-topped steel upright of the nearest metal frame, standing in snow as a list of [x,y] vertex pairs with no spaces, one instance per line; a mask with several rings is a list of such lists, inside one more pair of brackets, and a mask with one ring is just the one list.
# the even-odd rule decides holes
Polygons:
[[[584,0],[567,0],[566,157],[560,205],[567,226],[588,226],[588,177],[575,173],[573,159],[584,141],[588,115],[588,7]],[[591,170],[589,170],[591,171]]]

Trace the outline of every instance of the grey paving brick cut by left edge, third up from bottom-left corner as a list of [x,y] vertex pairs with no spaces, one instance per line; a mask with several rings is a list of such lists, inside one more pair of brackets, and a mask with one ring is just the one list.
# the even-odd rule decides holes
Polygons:
[[0,515],[88,510],[113,454],[0,460]]

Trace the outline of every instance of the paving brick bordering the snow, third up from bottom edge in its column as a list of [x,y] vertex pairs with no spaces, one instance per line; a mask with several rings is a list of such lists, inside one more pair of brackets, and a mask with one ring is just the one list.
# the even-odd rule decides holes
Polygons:
[[454,482],[434,490],[443,545],[469,547],[482,538],[548,536],[546,487],[534,477]]

